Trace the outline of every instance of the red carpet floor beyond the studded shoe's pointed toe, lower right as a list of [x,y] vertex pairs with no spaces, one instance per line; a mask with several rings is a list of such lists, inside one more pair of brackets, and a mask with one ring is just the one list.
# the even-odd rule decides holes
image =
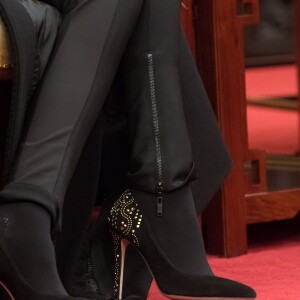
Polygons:
[[[278,230],[281,224],[256,225],[256,232],[262,226]],[[293,221],[286,223],[296,223]],[[272,228],[273,227],[273,228]],[[230,277],[249,284],[257,291],[260,300],[296,300],[300,299],[300,235],[299,222],[293,234],[289,227],[282,230],[280,238],[260,241],[250,244],[247,255],[220,259],[210,258],[210,263],[216,274]],[[298,231],[298,232],[297,232]]]

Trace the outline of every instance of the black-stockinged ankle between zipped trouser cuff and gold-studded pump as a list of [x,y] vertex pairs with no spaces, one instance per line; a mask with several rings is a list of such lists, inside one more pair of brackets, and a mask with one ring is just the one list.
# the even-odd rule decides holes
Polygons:
[[133,191],[144,217],[172,265],[189,274],[212,275],[190,186],[163,195],[162,216],[157,216],[156,196]]

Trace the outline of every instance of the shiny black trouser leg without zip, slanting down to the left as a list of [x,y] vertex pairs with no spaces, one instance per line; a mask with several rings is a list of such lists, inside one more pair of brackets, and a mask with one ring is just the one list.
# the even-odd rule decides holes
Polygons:
[[65,14],[2,201],[38,203],[59,228],[67,185],[140,8],[139,0],[89,0]]

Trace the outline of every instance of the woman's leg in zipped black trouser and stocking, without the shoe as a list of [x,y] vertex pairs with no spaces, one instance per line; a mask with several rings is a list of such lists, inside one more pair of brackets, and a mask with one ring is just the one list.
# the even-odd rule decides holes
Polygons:
[[168,258],[184,272],[212,274],[189,185],[195,168],[181,90],[180,5],[146,0],[123,60],[128,177]]

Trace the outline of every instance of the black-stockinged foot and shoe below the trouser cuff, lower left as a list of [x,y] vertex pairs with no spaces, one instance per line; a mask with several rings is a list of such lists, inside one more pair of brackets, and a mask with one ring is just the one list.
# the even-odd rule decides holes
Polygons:
[[12,300],[75,299],[57,273],[50,223],[46,210],[35,204],[1,205],[0,286]]

